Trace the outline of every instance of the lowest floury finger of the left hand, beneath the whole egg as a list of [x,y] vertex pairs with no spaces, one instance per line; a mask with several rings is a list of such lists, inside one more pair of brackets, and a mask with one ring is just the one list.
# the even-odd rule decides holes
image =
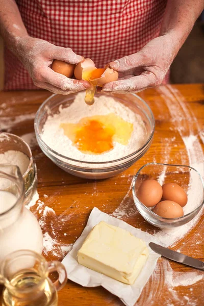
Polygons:
[[65,75],[53,71],[49,67],[43,69],[41,75],[42,82],[49,83],[55,87],[58,87],[62,90],[76,90],[81,91],[87,88],[90,88],[91,85],[87,81],[79,81],[74,79],[69,79]]

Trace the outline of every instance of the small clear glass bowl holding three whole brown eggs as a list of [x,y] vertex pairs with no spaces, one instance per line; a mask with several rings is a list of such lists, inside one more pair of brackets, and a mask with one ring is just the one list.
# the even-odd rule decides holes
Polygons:
[[[180,218],[163,218],[144,206],[137,198],[137,192],[145,180],[155,180],[161,185],[176,183],[188,196],[187,205],[183,208],[184,216]],[[204,203],[204,182],[197,170],[190,166],[149,163],[141,167],[133,182],[133,199],[141,216],[150,224],[162,228],[172,228],[192,220],[201,210]]]

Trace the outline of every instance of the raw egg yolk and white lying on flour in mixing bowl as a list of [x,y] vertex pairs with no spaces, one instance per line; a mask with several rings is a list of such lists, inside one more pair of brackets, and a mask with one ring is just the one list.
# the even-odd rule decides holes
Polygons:
[[133,124],[114,113],[82,118],[77,124],[61,123],[60,127],[74,146],[85,154],[108,152],[118,142],[127,145]]

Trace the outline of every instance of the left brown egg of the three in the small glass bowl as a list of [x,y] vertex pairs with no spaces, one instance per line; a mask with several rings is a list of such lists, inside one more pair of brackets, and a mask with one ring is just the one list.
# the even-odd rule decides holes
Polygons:
[[146,207],[155,206],[162,198],[162,186],[155,180],[146,180],[140,185],[137,197]]

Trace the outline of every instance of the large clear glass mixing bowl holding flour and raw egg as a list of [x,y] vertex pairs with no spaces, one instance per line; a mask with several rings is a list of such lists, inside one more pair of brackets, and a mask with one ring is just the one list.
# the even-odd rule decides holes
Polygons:
[[[114,176],[129,168],[139,160],[148,150],[155,131],[155,119],[149,106],[136,94],[106,94],[114,97],[119,103],[129,107],[134,113],[139,114],[146,127],[146,142],[130,155],[110,162],[85,162],[66,157],[50,148],[41,138],[43,126],[48,116],[59,113],[59,107],[68,107],[73,103],[76,94],[67,96],[54,94],[44,101],[35,117],[35,133],[38,144],[44,154],[57,166],[73,175],[86,179],[105,179]],[[104,94],[103,94],[104,95]],[[99,94],[96,94],[99,96]],[[69,118],[67,118],[69,119]]]

